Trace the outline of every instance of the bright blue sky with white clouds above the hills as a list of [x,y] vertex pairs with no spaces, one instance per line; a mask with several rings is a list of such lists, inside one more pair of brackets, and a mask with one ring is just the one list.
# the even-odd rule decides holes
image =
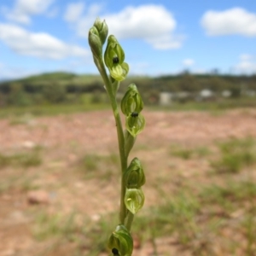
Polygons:
[[125,49],[131,74],[256,73],[255,0],[1,0],[0,80],[96,73],[96,17]]

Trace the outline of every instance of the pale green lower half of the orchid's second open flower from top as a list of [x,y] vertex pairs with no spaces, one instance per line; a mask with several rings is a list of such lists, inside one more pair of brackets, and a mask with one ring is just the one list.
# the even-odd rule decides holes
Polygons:
[[145,123],[145,118],[141,113],[131,113],[125,119],[125,127],[133,137],[137,137],[143,131]]

